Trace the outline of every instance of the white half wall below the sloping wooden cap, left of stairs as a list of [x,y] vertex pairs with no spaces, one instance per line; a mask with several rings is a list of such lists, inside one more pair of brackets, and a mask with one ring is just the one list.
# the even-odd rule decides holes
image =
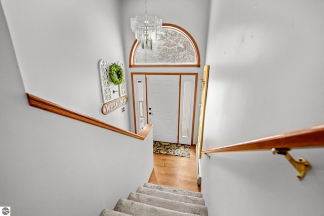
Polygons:
[[12,215],[99,215],[147,182],[152,133],[141,141],[30,107],[2,7],[0,32],[1,205]]

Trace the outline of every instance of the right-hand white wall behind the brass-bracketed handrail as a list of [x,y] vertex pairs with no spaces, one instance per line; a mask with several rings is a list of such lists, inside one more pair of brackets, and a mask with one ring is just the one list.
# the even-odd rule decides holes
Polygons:
[[[324,123],[323,1],[212,0],[203,149]],[[270,151],[202,159],[211,215],[323,215],[323,149],[293,150],[305,179]]]

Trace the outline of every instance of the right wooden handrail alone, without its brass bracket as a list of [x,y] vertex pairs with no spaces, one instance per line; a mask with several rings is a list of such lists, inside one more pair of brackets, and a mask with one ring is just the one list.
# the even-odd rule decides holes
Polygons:
[[324,147],[324,124],[235,145],[204,150],[201,153],[211,154],[229,151],[271,150],[272,148],[316,147]]

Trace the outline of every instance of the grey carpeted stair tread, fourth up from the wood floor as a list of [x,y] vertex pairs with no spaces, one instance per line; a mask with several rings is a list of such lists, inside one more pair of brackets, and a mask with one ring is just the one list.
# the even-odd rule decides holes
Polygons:
[[116,206],[114,207],[115,211],[131,214],[134,216],[142,215],[154,215],[154,216],[193,216],[197,214],[184,213],[180,211],[170,210],[166,208],[156,207],[140,202],[136,202],[128,199],[119,199]]

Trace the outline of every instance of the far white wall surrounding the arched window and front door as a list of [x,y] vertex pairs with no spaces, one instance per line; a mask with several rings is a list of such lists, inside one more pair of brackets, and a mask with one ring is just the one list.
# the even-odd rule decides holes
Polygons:
[[[200,82],[203,77],[203,69],[205,65],[205,50],[207,44],[208,32],[208,16],[209,16],[209,0],[149,0],[147,1],[147,15],[157,16],[163,20],[163,23],[171,23],[185,29],[196,41],[200,52],[199,68],[127,68],[128,86],[131,88],[131,72],[192,72],[198,73],[198,87],[196,99],[196,119],[195,119],[195,136],[194,143],[197,142],[198,119],[199,119],[199,103],[200,103]],[[129,58],[131,48],[135,41],[135,36],[130,28],[130,18],[136,15],[145,15],[144,0],[123,0],[121,1],[121,9],[123,10],[122,22],[124,35],[124,55]],[[129,65],[129,60],[125,66]],[[132,100],[130,98],[130,103]],[[134,128],[133,110],[130,110],[131,126]]]

